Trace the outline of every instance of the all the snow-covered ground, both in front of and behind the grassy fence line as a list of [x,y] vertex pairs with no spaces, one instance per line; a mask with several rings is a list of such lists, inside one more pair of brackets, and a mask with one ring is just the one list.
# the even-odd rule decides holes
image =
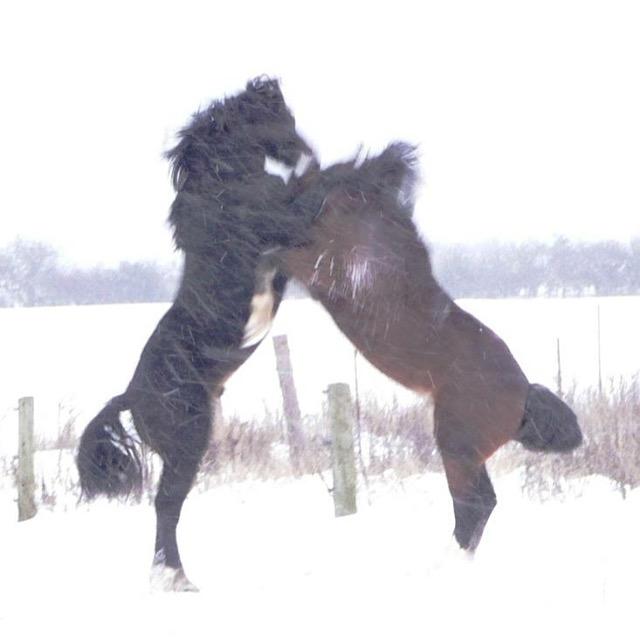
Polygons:
[[[597,383],[597,307],[605,378],[640,367],[639,298],[473,300],[462,304],[510,345],[531,379]],[[34,395],[41,434],[66,407],[90,417],[123,390],[165,305],[0,310],[0,423],[12,452],[17,398]],[[304,412],[329,382],[353,380],[353,350],[308,300],[286,301],[286,333]],[[362,361],[360,386],[411,401]],[[58,403],[63,406],[58,410]],[[230,381],[227,414],[279,409],[265,341]],[[59,415],[58,415],[59,414]],[[51,464],[57,454],[40,454]],[[179,537],[198,594],[151,594],[148,505],[41,510],[15,522],[0,491],[0,638],[637,638],[640,491],[568,484],[539,502],[514,472],[495,480],[498,507],[473,560],[452,544],[444,477],[374,480],[359,512],[333,517],[317,477],[193,492]],[[6,487],[6,485],[5,485]]]

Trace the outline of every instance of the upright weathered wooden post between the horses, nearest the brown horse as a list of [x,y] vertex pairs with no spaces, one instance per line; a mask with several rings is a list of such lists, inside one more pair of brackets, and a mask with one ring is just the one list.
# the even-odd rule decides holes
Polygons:
[[336,517],[348,516],[357,511],[353,404],[349,385],[330,384],[327,398],[333,447],[333,504]]

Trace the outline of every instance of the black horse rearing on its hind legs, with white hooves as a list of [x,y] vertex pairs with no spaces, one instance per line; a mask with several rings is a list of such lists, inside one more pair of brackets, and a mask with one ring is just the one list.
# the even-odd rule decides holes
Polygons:
[[178,552],[176,526],[212,424],[212,397],[266,334],[286,277],[274,251],[304,242],[319,210],[265,172],[265,156],[293,167],[311,150],[275,80],[250,82],[238,96],[193,116],[168,153],[177,191],[170,212],[184,251],[175,301],[142,351],[126,391],[89,423],[77,465],[83,495],[139,490],[136,443],[120,420],[131,412],[140,438],[163,462],[155,499],[152,581],[194,590]]

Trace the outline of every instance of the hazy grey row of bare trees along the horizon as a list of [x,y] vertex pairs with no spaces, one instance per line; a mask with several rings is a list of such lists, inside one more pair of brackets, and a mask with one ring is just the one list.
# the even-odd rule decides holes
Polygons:
[[[436,277],[454,297],[640,294],[640,238],[436,245],[431,252]],[[40,242],[17,239],[0,248],[0,307],[169,302],[178,279],[176,265],[68,267]]]

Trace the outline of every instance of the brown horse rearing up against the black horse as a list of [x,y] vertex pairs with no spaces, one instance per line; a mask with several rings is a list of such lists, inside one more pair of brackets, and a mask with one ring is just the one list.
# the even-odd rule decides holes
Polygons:
[[437,283],[411,220],[414,167],[413,149],[395,144],[361,166],[307,174],[308,189],[326,190],[322,210],[312,242],[282,260],[373,365],[432,396],[454,535],[473,550],[496,505],[485,461],[509,440],[568,451],[581,432],[571,409],[529,384],[506,344]]

